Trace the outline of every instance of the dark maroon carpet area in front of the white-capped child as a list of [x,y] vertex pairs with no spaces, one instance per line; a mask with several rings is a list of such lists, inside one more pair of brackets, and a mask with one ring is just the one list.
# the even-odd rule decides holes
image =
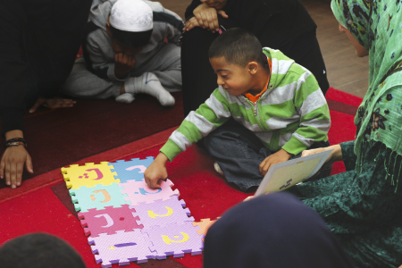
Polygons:
[[[24,180],[180,124],[184,118],[181,93],[173,96],[176,105],[172,108],[159,105],[155,97],[138,95],[130,105],[113,99],[77,100],[71,108],[40,108],[28,114],[24,133],[35,174],[25,172]],[[4,187],[0,180],[0,188]]]

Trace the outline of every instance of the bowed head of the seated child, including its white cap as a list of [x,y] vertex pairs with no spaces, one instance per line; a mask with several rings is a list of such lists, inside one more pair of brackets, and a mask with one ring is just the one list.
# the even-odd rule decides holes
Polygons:
[[116,53],[138,54],[152,35],[153,13],[143,1],[119,0],[113,4],[106,23]]

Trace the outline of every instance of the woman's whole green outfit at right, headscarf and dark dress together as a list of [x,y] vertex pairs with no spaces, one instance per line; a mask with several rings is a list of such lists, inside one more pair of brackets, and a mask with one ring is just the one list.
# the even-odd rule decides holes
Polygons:
[[337,20],[369,50],[369,88],[347,172],[289,188],[342,242],[356,267],[402,265],[402,1],[332,0]]

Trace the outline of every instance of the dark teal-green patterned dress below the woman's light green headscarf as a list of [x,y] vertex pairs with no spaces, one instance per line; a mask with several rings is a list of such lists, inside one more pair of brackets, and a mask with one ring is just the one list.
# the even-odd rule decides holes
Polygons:
[[289,188],[322,216],[356,267],[402,264],[402,193],[385,180],[392,151],[364,143],[362,172],[355,169],[355,142],[340,144],[347,172]]

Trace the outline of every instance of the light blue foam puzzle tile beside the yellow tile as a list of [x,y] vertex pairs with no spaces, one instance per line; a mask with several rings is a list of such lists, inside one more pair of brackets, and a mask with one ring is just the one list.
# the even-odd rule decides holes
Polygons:
[[153,156],[148,156],[146,159],[133,158],[130,161],[118,160],[116,163],[109,163],[113,165],[117,175],[114,175],[114,179],[120,179],[121,183],[128,180],[141,181],[144,180],[144,172],[147,167],[154,162]]

